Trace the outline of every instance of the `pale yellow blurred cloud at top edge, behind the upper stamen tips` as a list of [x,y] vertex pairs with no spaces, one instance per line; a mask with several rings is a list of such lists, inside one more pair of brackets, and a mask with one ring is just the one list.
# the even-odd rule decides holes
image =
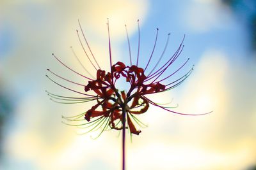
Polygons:
[[[79,19],[84,30],[87,30],[93,37],[107,38],[107,18],[109,18],[109,28],[112,39],[126,39],[125,27],[129,29],[130,34],[137,31],[137,20],[140,23],[147,18],[148,1],[79,1],[79,3],[65,3],[61,8],[63,11],[71,11],[70,24],[74,27],[74,23]],[[73,18],[73,20],[71,20]],[[74,19],[76,19],[74,21]],[[77,24],[78,25],[78,24]],[[70,30],[69,30],[70,31]]]

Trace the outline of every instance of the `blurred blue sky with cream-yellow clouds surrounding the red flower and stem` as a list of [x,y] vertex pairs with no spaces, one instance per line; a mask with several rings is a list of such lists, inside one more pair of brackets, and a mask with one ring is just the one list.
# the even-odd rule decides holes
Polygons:
[[[132,136],[132,142],[127,139],[127,169],[255,168],[254,0],[1,0],[0,169],[120,169],[118,132],[104,132],[96,140],[91,137],[97,132],[78,135],[81,129],[61,124],[61,115],[82,113],[91,105],[53,103],[45,93],[49,90],[76,96],[47,80],[47,68],[86,84],[61,66],[52,52],[86,74],[70,51],[73,46],[84,66],[95,73],[79,45],[77,19],[100,66],[108,70],[107,18],[113,59],[124,62],[129,61],[124,24],[135,57],[140,19],[141,67],[154,45],[156,27],[159,41],[155,63],[169,32],[164,59],[175,52],[186,34],[185,48],[173,67],[190,57],[179,75],[193,64],[195,71],[185,83],[153,99],[179,104],[175,111],[184,113],[213,111],[210,115],[187,117],[150,107],[140,117],[148,127],[141,129],[140,136]],[[62,84],[70,85],[64,81]]]

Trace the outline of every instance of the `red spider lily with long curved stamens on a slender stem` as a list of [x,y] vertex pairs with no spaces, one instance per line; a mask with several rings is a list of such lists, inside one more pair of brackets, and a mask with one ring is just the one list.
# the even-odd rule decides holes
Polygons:
[[[71,90],[72,92],[76,92],[77,94],[81,94],[83,97],[67,97],[67,96],[59,96],[56,94],[52,94],[50,92],[47,92],[49,96],[52,97],[53,101],[56,101],[58,103],[85,103],[90,101],[96,101],[96,104],[92,106],[89,110],[87,110],[84,113],[81,113],[79,115],[75,115],[74,117],[63,117],[67,121],[84,121],[87,120],[88,122],[83,124],[68,124],[68,125],[84,125],[86,127],[90,127],[90,131],[96,131],[102,128],[102,131],[99,133],[99,135],[105,131],[106,129],[116,129],[116,130],[123,130],[123,169],[124,169],[124,140],[125,140],[125,129],[129,129],[131,134],[140,134],[140,130],[136,129],[134,122],[138,125],[144,125],[138,118],[136,118],[136,115],[140,115],[142,113],[145,113],[150,104],[153,106],[157,106],[159,108],[162,108],[163,110],[170,111],[175,114],[180,115],[193,115],[193,114],[185,114],[185,113],[179,113],[176,111],[171,110],[171,107],[166,107],[161,104],[157,104],[151,99],[148,99],[148,94],[156,94],[159,92],[166,92],[168,90],[171,90],[180,83],[182,83],[193,71],[193,68],[191,68],[186,74],[183,76],[180,76],[177,80],[171,81],[170,83],[163,83],[173,76],[173,74],[176,74],[184,65],[188,62],[189,59],[187,59],[184,64],[182,64],[180,67],[176,69],[176,71],[169,73],[168,76],[164,76],[164,73],[168,70],[170,66],[172,66],[173,62],[177,60],[177,58],[180,56],[180,53],[182,52],[182,49],[184,47],[183,41],[180,43],[179,48],[177,48],[176,52],[163,64],[161,67],[157,67],[160,63],[164,52],[166,50],[166,47],[168,45],[168,40],[170,34],[168,34],[168,39],[166,41],[166,45],[164,46],[164,50],[162,55],[157,60],[157,63],[153,66],[152,70],[149,71],[149,73],[145,73],[148,66],[152,64],[152,56],[156,47],[157,43],[157,37],[158,37],[158,29],[156,32],[156,39],[154,41],[154,47],[152,49],[152,53],[150,57],[148,58],[147,65],[143,69],[139,67],[139,54],[140,54],[140,27],[138,22],[138,30],[139,30],[139,40],[138,40],[138,55],[136,60],[136,65],[132,64],[132,57],[131,57],[131,48],[130,48],[130,42],[129,42],[129,36],[127,33],[126,25],[126,33],[127,33],[127,42],[129,45],[129,56],[130,56],[130,65],[127,66],[123,62],[116,62],[116,64],[112,64],[112,57],[111,57],[111,41],[109,36],[109,24],[108,24],[108,40],[109,40],[109,60],[110,60],[110,71],[106,72],[102,69],[100,69],[100,66],[95,59],[92,50],[88,44],[88,41],[86,37],[84,36],[83,29],[81,28],[81,24],[79,23],[79,27],[81,29],[81,33],[83,34],[84,43],[88,47],[89,53],[86,52],[84,48],[84,44],[81,41],[81,38],[79,36],[79,32],[77,31],[77,35],[79,38],[79,42],[81,43],[81,46],[84,50],[84,53],[92,66],[97,70],[96,78],[93,78],[92,74],[89,73],[85,69],[85,71],[89,74],[88,76],[84,76],[83,74],[77,73],[74,69],[68,67],[66,64],[61,62],[56,55],[52,54],[63,66],[67,67],[67,69],[70,69],[70,71],[79,74],[79,76],[83,76],[83,78],[86,78],[88,80],[87,85],[82,85],[80,83],[76,83],[74,81],[68,80],[67,78],[63,78],[62,76],[59,76],[56,73],[53,73],[50,71],[54,76],[57,76],[58,78],[61,78],[63,80],[69,81],[71,83],[74,83],[78,85],[79,87],[83,87],[85,92],[80,92],[74,89],[70,89],[68,87],[65,87],[61,85],[60,83],[52,80],[49,76],[47,76],[51,81],[56,83],[57,85],[63,87],[64,89]],[[74,51],[72,50],[74,53]],[[74,56],[81,64],[81,61],[78,59],[76,53],[74,53]],[[94,64],[93,64],[94,63]],[[83,64],[81,64],[83,66]],[[157,68],[157,69],[156,69]],[[120,91],[116,89],[116,81],[120,78],[125,78],[125,81],[127,84],[129,84],[129,90],[127,92]],[[94,92],[94,95],[89,94],[88,92]],[[62,101],[60,101],[62,100]],[[68,102],[63,102],[68,101]],[[198,114],[198,115],[204,115]],[[84,117],[81,118],[81,117]],[[121,124],[120,124],[121,123]],[[67,123],[65,123],[67,124]],[[90,132],[88,131],[88,132]]]

